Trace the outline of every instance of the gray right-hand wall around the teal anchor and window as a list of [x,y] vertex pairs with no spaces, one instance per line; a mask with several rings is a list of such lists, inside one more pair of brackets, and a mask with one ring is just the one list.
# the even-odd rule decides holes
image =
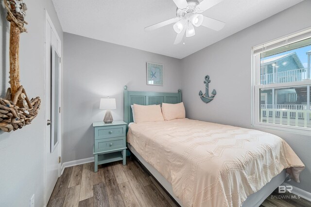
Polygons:
[[[183,101],[189,118],[251,127],[251,48],[311,26],[311,0],[271,16],[241,32],[182,59]],[[205,90],[205,75],[215,99],[205,104],[198,96]],[[210,91],[211,92],[211,91]],[[311,192],[311,136],[261,129],[286,140],[306,165],[301,183],[292,185]]]

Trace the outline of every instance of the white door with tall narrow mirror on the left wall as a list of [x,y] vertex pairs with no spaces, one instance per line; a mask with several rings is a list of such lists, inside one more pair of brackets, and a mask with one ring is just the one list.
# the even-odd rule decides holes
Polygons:
[[61,42],[46,12],[46,147],[45,147],[45,204],[48,203],[60,176],[60,51]]

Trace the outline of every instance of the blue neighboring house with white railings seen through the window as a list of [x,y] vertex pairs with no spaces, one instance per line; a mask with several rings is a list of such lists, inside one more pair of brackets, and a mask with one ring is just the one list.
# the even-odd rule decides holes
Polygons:
[[301,63],[296,52],[260,62],[260,83],[271,84],[271,87],[260,91],[261,122],[311,127],[310,86],[273,87],[273,83],[280,86],[282,83],[287,85],[289,82],[310,79],[311,51],[306,52],[306,55],[307,65]]

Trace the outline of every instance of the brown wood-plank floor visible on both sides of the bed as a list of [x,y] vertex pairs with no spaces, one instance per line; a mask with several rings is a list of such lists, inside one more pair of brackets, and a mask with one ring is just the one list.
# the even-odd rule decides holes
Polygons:
[[[99,166],[94,163],[66,168],[52,192],[48,207],[177,207],[171,197],[135,159]],[[300,199],[277,199],[291,193],[273,192],[260,207],[311,207]]]

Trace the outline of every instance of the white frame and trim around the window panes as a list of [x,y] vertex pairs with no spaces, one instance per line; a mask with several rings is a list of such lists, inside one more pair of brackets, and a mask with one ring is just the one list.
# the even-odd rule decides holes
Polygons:
[[[306,28],[304,30],[294,32],[288,35],[285,35],[280,38],[276,38],[272,41],[254,46],[251,50],[251,61],[252,61],[252,70],[251,70],[251,126],[256,128],[266,128],[266,129],[273,129],[278,131],[284,131],[284,132],[290,132],[295,134],[302,134],[302,135],[310,135],[311,134],[311,128],[306,127],[295,127],[295,126],[288,126],[288,125],[278,125],[278,124],[267,124],[267,123],[261,123],[259,122],[259,93],[256,93],[256,91],[259,91],[259,89],[269,89],[269,88],[283,88],[283,87],[295,87],[295,86],[301,86],[301,85],[311,85],[311,80],[303,80],[303,81],[296,81],[296,82],[290,82],[290,83],[272,83],[267,85],[259,85],[258,81],[260,81],[256,77],[260,77],[260,70],[256,70],[258,67],[257,64],[260,65],[260,56],[256,54],[260,54],[259,48],[278,48],[287,44],[291,44],[303,39],[311,38],[311,27]],[[284,43],[286,42],[286,44]],[[275,47],[271,48],[272,45],[275,45]],[[259,66],[260,67],[260,66]]]

